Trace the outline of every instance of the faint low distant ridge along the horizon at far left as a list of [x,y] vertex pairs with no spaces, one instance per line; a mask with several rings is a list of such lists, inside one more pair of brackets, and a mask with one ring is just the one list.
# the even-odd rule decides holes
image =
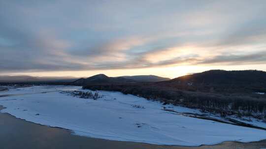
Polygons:
[[40,77],[30,75],[0,75],[0,82],[22,83],[22,82],[72,82],[74,77]]

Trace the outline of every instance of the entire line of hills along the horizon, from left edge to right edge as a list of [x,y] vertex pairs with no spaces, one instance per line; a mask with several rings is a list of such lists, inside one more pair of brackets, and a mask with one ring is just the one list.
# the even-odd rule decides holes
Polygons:
[[[21,82],[31,84],[65,84],[65,85],[93,85],[93,84],[129,84],[141,82],[145,85],[172,88],[184,91],[209,93],[266,93],[266,72],[256,70],[224,71],[210,70],[192,75],[184,75],[174,79],[156,75],[133,75],[109,77],[99,74],[88,78],[73,77],[35,77],[28,75],[0,76],[0,82]],[[56,83],[54,83],[56,82]]]

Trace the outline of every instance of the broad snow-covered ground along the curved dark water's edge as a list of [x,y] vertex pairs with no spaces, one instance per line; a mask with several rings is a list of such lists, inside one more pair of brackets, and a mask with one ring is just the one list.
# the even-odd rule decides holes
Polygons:
[[[33,86],[0,92],[14,95],[0,98],[0,105],[6,107],[1,112],[37,124],[70,129],[77,135],[118,141],[199,146],[266,139],[265,130],[173,114],[162,110],[159,102],[133,95],[99,91],[103,98],[93,100],[60,93],[73,89],[81,87]],[[164,106],[177,112],[200,113],[180,106]]]

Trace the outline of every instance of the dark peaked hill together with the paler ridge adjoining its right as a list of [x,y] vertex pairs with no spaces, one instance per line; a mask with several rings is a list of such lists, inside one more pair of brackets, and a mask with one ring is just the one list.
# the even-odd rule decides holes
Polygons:
[[99,83],[134,83],[134,82],[157,82],[170,80],[169,78],[160,77],[156,75],[133,75],[133,76],[117,76],[109,77],[107,75],[99,74],[88,78],[80,78],[72,82],[72,85],[86,85]]

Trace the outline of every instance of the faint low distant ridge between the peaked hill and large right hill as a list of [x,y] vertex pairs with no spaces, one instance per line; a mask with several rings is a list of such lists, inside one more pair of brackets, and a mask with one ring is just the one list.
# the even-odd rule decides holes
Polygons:
[[127,79],[132,79],[137,82],[159,82],[170,80],[170,78],[160,77],[156,75],[133,75],[133,76],[122,76]]

